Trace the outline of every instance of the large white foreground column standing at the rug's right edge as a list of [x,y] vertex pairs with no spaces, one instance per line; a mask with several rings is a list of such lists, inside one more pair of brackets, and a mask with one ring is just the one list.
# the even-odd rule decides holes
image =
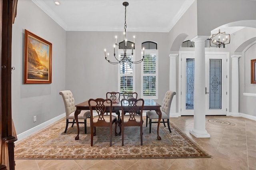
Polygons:
[[195,79],[194,79],[194,128],[190,133],[196,138],[210,138],[205,129],[205,40],[209,36],[196,36],[195,42]]

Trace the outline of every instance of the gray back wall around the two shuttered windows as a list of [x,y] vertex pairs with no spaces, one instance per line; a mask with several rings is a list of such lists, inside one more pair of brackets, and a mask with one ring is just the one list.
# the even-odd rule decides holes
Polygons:
[[[126,32],[126,34],[130,41],[133,41],[133,35],[136,36],[136,60],[141,57],[142,42],[158,43],[158,102],[162,103],[164,94],[169,89],[170,60],[166,38],[168,33]],[[110,59],[113,57],[111,55],[114,53],[116,35],[119,37],[118,42],[122,41],[122,32],[67,32],[66,88],[72,90],[76,103],[90,98],[106,97],[107,91],[118,90],[118,65],[108,63],[104,57],[104,48],[110,53]],[[140,97],[141,64],[135,65],[135,71],[135,91]]]

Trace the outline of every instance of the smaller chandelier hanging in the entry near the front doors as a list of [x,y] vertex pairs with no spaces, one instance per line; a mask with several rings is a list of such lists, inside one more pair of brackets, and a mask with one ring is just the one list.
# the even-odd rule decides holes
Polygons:
[[226,34],[225,32],[220,32],[218,34],[212,34],[212,38],[210,39],[211,47],[221,47],[225,44],[230,43],[230,34]]

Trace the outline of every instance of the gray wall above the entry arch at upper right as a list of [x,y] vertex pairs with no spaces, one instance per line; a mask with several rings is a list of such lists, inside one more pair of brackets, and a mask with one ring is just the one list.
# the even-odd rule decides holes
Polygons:
[[197,33],[210,36],[211,30],[224,24],[256,20],[255,7],[254,0],[197,0]]

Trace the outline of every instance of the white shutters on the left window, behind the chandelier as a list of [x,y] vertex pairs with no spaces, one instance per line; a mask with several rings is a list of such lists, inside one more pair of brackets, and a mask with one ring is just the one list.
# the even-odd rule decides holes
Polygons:
[[[124,57],[124,50],[118,50],[118,56],[122,59]],[[128,59],[134,60],[135,52],[132,57],[132,50],[127,49],[126,55]],[[134,64],[132,63],[121,63],[118,64],[118,91],[122,95],[124,92],[134,91]]]

